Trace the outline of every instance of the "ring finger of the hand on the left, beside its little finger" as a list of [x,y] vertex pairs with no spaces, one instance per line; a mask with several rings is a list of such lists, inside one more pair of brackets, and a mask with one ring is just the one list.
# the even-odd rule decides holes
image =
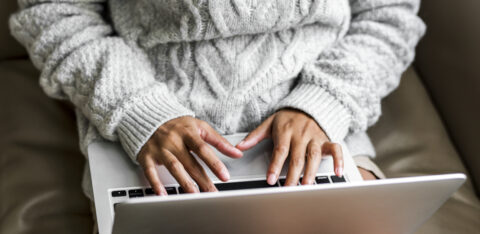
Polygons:
[[197,186],[193,183],[192,179],[188,175],[187,171],[183,167],[182,163],[177,159],[177,157],[168,150],[163,150],[162,163],[168,169],[170,174],[177,180],[178,184],[185,190],[187,193],[198,193],[199,190]]

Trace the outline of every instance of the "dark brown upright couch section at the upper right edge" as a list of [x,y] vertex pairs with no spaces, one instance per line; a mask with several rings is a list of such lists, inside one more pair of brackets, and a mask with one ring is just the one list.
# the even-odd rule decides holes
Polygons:
[[422,1],[428,25],[416,67],[480,197],[480,1]]

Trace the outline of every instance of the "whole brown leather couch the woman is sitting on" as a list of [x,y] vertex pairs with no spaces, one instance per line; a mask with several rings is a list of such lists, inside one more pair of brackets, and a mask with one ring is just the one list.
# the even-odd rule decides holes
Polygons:
[[[72,107],[44,95],[9,36],[15,2],[0,4],[0,233],[91,233]],[[418,233],[480,232],[478,10],[476,0],[424,1],[428,33],[417,60],[369,131],[388,177],[468,175]]]

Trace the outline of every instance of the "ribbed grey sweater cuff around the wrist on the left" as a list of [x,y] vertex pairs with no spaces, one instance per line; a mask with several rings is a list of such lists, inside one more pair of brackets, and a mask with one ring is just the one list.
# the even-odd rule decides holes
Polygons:
[[195,116],[193,111],[180,104],[171,92],[161,86],[148,89],[146,93],[130,100],[130,103],[117,132],[124,150],[136,164],[140,149],[162,124],[182,116]]

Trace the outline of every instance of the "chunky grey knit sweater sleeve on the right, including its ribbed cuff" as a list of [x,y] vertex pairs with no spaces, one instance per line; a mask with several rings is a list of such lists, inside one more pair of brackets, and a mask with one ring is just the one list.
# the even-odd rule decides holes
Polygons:
[[299,83],[276,106],[312,116],[332,141],[365,131],[381,114],[425,32],[419,0],[350,0],[345,36],[307,63]]

